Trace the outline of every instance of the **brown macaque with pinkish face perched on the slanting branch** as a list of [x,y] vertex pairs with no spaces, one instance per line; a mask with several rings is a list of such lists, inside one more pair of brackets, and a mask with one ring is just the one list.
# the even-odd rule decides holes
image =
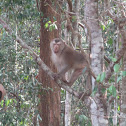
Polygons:
[[[72,86],[74,81],[82,74],[83,69],[87,66],[87,60],[82,53],[75,51],[60,38],[53,39],[50,43],[50,48],[52,62],[58,71],[58,73],[54,75],[54,78],[61,78],[69,86]],[[73,73],[67,82],[65,73],[69,70],[73,70]]]

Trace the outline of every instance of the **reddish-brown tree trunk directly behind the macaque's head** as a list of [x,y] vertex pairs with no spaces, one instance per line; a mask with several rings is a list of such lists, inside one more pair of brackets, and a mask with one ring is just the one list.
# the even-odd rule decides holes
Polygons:
[[[59,37],[59,31],[49,31],[45,29],[45,23],[48,21],[54,21],[54,17],[59,22],[58,16],[49,6],[50,0],[41,0],[41,31],[40,31],[40,57],[50,68],[54,70],[50,56],[50,41],[56,37]],[[48,20],[49,19],[49,20]],[[59,126],[60,125],[60,88],[55,84],[50,77],[41,69],[39,72],[39,80],[42,82],[44,88],[51,88],[49,90],[41,90],[39,112],[42,118],[40,126]]]

